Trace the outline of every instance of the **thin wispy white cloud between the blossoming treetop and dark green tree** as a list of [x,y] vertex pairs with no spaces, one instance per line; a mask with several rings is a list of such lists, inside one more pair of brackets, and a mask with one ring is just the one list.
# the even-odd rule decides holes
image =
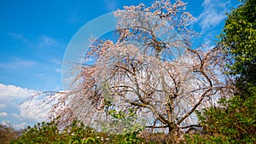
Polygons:
[[228,4],[230,4],[230,0],[205,0],[204,3],[202,3],[204,9],[202,13],[195,18],[194,22],[199,22],[202,31],[218,26],[225,18]]

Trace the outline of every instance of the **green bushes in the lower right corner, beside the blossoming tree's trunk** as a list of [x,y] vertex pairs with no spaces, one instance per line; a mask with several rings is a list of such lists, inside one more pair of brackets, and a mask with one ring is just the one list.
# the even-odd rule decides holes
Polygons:
[[[204,128],[203,135],[187,135],[191,143],[255,143],[256,89],[245,101],[240,95],[221,99],[221,107],[209,107],[197,116]],[[199,142],[200,141],[200,142]]]

